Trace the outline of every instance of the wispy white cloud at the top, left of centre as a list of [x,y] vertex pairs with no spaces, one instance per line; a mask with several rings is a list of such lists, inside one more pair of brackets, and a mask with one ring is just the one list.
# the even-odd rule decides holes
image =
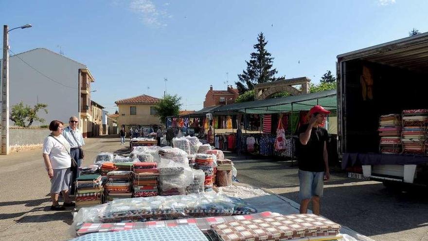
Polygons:
[[[169,3],[168,3],[169,5]],[[167,6],[164,4],[164,6]],[[158,9],[151,0],[131,0],[129,9],[137,13],[143,20],[144,25],[149,27],[165,27],[166,19],[172,18],[166,9]]]

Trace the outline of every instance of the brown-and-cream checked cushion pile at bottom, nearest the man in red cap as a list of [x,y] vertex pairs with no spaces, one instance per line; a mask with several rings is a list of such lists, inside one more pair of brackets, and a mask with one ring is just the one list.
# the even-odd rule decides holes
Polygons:
[[339,224],[315,214],[227,221],[213,224],[211,228],[220,241],[277,241],[314,237],[341,239]]

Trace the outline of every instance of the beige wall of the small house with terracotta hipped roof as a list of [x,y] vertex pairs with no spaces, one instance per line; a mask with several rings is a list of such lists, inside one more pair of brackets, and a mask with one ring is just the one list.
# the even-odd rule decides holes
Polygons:
[[[160,125],[159,117],[150,114],[150,107],[154,107],[156,104],[118,104],[119,117],[118,126],[122,125]],[[137,114],[130,114],[130,107],[137,107]],[[125,128],[129,130],[129,127]]]

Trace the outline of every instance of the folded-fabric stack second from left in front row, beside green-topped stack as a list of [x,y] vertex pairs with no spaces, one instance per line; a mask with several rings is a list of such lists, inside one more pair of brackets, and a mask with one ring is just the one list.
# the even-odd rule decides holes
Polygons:
[[110,171],[107,173],[107,201],[132,198],[132,171]]

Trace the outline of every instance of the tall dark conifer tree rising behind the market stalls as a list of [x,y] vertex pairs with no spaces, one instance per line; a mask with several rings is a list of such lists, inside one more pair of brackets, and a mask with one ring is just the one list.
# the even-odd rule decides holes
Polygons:
[[276,78],[278,73],[276,69],[272,69],[273,57],[266,50],[267,41],[263,33],[257,37],[257,44],[253,48],[256,50],[251,53],[250,61],[247,63],[247,70],[243,70],[242,74],[238,74],[238,81],[235,82],[239,93],[245,93],[253,90],[254,85],[275,80],[284,80],[285,76]]

